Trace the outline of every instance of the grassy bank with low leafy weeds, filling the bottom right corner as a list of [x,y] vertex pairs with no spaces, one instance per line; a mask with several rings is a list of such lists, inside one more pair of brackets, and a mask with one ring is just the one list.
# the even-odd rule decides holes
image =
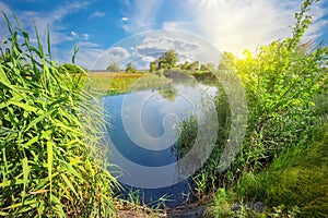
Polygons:
[[[328,215],[328,122],[318,124],[308,144],[300,143],[277,157],[270,168],[246,173],[238,184],[219,189],[207,209],[209,217],[325,217]],[[246,208],[262,202],[262,214]],[[232,211],[239,202],[238,213]],[[243,204],[244,203],[244,204]]]

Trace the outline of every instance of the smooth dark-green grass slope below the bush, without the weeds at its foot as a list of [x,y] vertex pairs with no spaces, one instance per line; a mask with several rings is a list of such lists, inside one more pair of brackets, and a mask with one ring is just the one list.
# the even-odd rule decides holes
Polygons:
[[[306,148],[304,148],[306,147]],[[308,145],[298,144],[283,153],[265,172],[247,173],[237,193],[263,201],[270,207],[297,206],[302,217],[328,215],[328,122],[318,126]]]

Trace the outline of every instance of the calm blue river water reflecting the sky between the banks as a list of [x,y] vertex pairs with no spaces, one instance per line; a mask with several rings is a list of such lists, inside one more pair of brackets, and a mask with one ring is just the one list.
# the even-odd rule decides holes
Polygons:
[[171,83],[104,98],[105,109],[110,113],[109,162],[121,168],[121,172],[112,171],[120,175],[126,189],[124,197],[134,192],[133,196],[142,203],[155,206],[165,196],[168,207],[191,199],[190,179],[180,181],[186,174],[175,165],[178,126],[197,111],[202,98],[213,98],[215,93],[215,87],[198,83]]

